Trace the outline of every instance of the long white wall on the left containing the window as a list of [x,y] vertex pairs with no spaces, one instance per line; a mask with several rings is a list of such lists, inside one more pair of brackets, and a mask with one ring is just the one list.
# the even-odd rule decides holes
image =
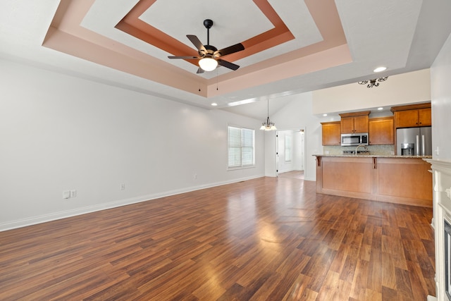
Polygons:
[[[0,85],[0,231],[264,176],[252,118],[3,60]],[[229,123],[257,127],[256,168],[226,170]]]

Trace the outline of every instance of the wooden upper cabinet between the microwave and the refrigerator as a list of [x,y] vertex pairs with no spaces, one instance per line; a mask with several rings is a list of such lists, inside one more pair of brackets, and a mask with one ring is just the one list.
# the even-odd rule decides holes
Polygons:
[[369,120],[369,144],[393,145],[395,144],[395,121],[393,116],[371,118]]

